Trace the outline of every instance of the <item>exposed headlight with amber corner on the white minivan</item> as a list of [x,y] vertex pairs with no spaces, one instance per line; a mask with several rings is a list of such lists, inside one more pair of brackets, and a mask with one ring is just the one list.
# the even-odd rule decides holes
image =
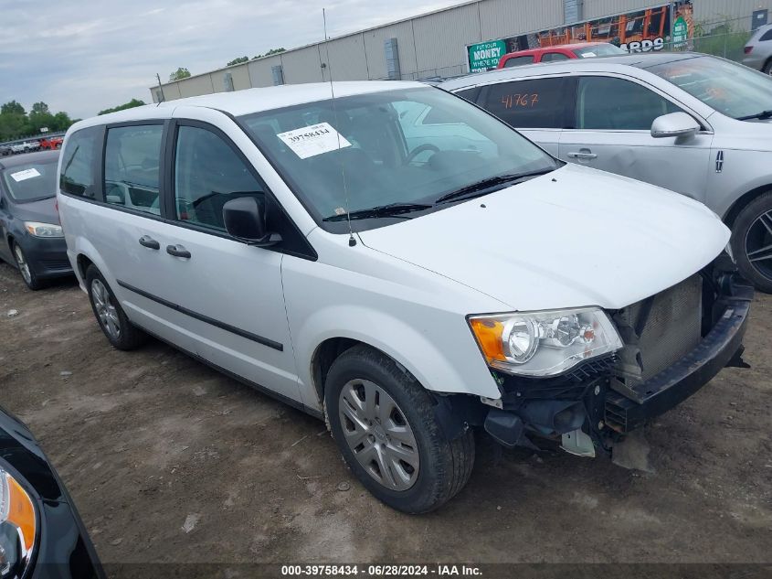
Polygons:
[[598,307],[469,316],[488,365],[523,376],[553,376],[622,348],[617,328]]

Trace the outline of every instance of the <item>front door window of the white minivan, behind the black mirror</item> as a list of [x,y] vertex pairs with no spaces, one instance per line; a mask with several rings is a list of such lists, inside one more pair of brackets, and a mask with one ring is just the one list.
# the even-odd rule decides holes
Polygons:
[[178,220],[225,231],[223,206],[233,198],[264,196],[249,168],[217,134],[181,126],[174,159],[174,207]]

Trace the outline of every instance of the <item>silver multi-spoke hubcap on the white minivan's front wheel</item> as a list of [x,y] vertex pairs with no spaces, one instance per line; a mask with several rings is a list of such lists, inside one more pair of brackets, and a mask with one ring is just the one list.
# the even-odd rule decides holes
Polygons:
[[418,478],[418,443],[388,393],[366,380],[348,382],[338,400],[346,443],[367,474],[384,487],[407,490]]

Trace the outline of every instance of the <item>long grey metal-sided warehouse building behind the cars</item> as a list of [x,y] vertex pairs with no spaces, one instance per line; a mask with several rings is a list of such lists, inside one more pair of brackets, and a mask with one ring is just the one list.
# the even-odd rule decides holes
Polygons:
[[[767,24],[772,0],[475,0],[155,87],[153,102],[330,80],[422,80],[495,66],[506,51],[607,39],[625,48],[701,49]],[[731,38],[730,38],[731,37]],[[697,38],[699,39],[699,38]],[[628,47],[629,44],[629,47]],[[711,47],[716,45],[711,43]],[[705,45],[707,46],[707,44]],[[728,47],[728,48],[727,48]],[[742,48],[742,42],[739,45]],[[706,49],[704,49],[707,51]]]

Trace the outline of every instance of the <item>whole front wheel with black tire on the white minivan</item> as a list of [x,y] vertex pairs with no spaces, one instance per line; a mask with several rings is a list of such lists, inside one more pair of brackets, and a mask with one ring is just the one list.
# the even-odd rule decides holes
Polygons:
[[335,359],[324,408],[346,464],[393,509],[438,509],[469,480],[471,430],[448,440],[428,391],[382,352],[355,346]]

